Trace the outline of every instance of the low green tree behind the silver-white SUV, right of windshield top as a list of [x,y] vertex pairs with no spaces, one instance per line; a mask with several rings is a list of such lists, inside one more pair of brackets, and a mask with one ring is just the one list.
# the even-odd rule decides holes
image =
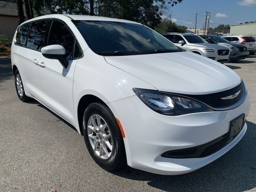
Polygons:
[[165,32],[178,32],[178,33],[185,33],[187,31],[186,26],[180,26],[176,23],[172,22],[171,20],[162,20],[160,24],[158,24],[154,30],[158,33],[165,33]]

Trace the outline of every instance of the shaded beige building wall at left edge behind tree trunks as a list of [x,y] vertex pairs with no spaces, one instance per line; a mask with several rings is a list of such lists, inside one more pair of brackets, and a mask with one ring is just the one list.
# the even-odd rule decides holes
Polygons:
[[0,15],[0,34],[4,34],[10,41],[12,41],[18,25],[18,17]]

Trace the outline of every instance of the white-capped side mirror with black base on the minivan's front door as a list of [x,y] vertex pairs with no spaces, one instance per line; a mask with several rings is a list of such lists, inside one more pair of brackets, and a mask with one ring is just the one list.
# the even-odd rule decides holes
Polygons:
[[41,53],[45,58],[57,59],[64,68],[68,67],[68,60],[66,58],[66,50],[61,45],[48,45],[41,49]]

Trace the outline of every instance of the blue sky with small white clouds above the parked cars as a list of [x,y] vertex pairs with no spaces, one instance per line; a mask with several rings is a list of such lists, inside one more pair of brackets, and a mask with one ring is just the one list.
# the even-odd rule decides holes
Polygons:
[[256,0],[183,0],[174,7],[168,6],[164,10],[163,18],[188,28],[203,28],[206,11],[210,12],[209,27],[215,28],[218,24],[239,24],[246,21],[256,21]]

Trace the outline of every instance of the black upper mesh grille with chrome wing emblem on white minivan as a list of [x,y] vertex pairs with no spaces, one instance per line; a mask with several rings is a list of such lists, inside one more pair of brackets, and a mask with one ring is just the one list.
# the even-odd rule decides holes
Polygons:
[[[221,99],[223,97],[234,95],[239,90],[240,90],[240,93],[235,98],[226,99],[226,100]],[[185,96],[194,98],[200,102],[207,104],[208,106],[211,106],[212,108],[227,108],[236,104],[242,98],[244,90],[245,90],[244,82],[241,82],[238,86],[226,91],[206,94],[206,95],[185,95]]]

